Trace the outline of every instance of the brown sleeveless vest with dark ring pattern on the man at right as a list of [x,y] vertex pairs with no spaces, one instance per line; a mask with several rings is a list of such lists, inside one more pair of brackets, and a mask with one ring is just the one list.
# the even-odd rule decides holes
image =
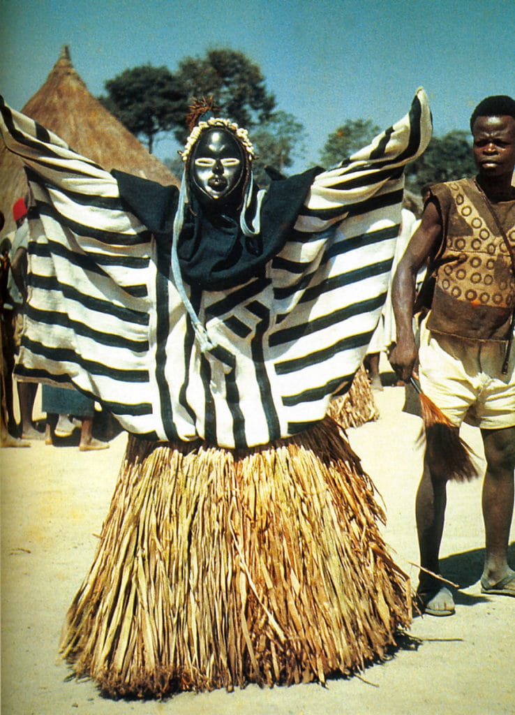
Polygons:
[[[443,223],[427,325],[470,340],[506,340],[515,277],[506,242],[473,179],[431,187]],[[494,204],[515,250],[515,200]]]

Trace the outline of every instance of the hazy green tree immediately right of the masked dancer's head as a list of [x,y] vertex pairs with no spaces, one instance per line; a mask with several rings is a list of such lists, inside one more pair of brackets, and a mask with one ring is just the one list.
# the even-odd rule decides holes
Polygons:
[[257,154],[254,177],[260,186],[270,182],[265,167],[272,167],[279,174],[284,174],[294,159],[301,158],[306,150],[304,126],[289,112],[271,114],[266,122],[254,129],[251,139]]

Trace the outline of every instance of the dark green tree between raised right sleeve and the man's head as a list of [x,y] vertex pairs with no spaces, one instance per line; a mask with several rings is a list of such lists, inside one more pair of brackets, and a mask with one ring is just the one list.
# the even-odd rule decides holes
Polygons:
[[474,174],[476,166],[469,134],[454,131],[433,137],[424,154],[406,167],[406,186],[420,192],[425,184],[463,179]]

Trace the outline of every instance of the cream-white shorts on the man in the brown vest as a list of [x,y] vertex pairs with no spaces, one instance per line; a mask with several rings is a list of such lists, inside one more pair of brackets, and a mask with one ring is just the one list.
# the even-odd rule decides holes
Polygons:
[[501,368],[505,342],[468,342],[437,335],[421,325],[419,378],[422,391],[459,427],[486,430],[515,426],[515,342],[508,374]]

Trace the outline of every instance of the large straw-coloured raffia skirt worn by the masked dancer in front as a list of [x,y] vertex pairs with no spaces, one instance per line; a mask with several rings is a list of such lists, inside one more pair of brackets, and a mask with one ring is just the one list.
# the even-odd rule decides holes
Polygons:
[[114,696],[350,674],[411,621],[339,426],[236,452],[129,438],[61,654]]

